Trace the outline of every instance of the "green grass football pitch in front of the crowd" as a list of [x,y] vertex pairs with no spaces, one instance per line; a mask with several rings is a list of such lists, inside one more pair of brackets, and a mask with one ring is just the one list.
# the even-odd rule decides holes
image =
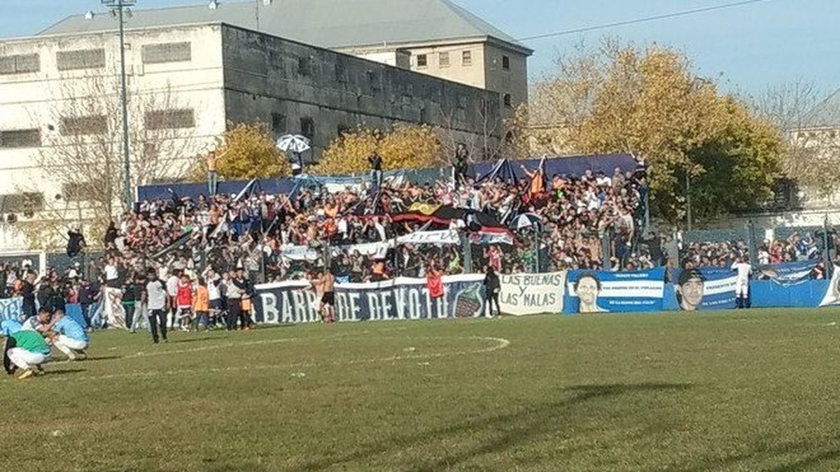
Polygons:
[[840,470],[840,312],[96,333],[0,469]]

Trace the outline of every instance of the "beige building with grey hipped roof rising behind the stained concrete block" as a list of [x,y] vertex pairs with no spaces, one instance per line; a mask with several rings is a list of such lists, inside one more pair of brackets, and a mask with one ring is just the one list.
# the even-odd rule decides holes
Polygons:
[[[528,102],[528,49],[449,0],[250,0],[138,10],[129,27],[223,22],[498,92],[503,115]],[[114,29],[76,15],[42,34]]]

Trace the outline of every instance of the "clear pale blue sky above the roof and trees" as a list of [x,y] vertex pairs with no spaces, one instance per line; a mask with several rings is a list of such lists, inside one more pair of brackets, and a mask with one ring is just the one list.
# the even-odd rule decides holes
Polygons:
[[[703,8],[733,0],[455,0],[516,38]],[[138,0],[140,7],[195,5],[205,0]],[[34,34],[73,13],[101,9],[99,0],[0,0],[0,36]],[[529,41],[536,52],[531,78],[549,72],[554,57],[581,39],[612,34],[639,44],[685,50],[698,71],[723,74],[728,87],[759,92],[785,82],[814,81],[825,92],[840,87],[838,0],[766,0],[742,7],[587,34]]]

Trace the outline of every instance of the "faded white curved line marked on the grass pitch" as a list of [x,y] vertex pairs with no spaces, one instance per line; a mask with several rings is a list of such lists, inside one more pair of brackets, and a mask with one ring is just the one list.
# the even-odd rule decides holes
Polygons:
[[[435,339],[431,338],[430,339]],[[250,345],[254,344],[269,344],[271,342],[286,342],[296,340],[298,338],[284,338],[284,339],[275,339],[275,340],[265,340],[265,341],[254,341]],[[417,338],[410,338],[408,339],[417,339]],[[410,354],[410,355],[396,355],[384,358],[371,358],[371,359],[351,359],[346,361],[335,361],[335,362],[308,362],[308,363],[297,363],[297,364],[260,364],[260,365],[240,365],[240,366],[231,366],[231,367],[206,367],[206,368],[197,368],[197,369],[181,369],[181,370],[153,370],[153,371],[145,371],[145,372],[126,372],[124,374],[108,374],[108,375],[86,375],[86,376],[67,376],[67,377],[56,377],[52,378],[49,375],[49,370],[47,370],[47,379],[52,381],[67,381],[67,380],[113,380],[113,379],[135,379],[135,378],[150,378],[150,377],[159,377],[161,375],[166,376],[173,376],[173,375],[192,375],[192,374],[205,374],[205,373],[225,373],[225,372],[239,372],[239,371],[260,371],[260,370],[284,370],[284,369],[297,369],[301,367],[309,367],[309,368],[317,368],[317,367],[324,367],[324,366],[336,366],[336,365],[353,365],[353,364],[375,364],[380,362],[396,362],[401,360],[414,360],[414,359],[439,359],[444,357],[454,357],[454,356],[462,356],[462,355],[472,355],[472,354],[486,354],[493,351],[497,351],[500,349],[505,349],[511,345],[511,342],[505,338],[491,338],[491,337],[481,337],[481,336],[474,336],[468,338],[439,338],[439,339],[470,339],[470,340],[478,340],[478,341],[491,341],[493,345],[487,348],[481,349],[469,349],[469,350],[461,350],[461,351],[454,351],[449,353],[431,353],[431,354]],[[298,339],[300,340],[300,339]],[[305,338],[302,340],[312,340],[312,338]],[[244,343],[234,344],[236,346],[248,345]],[[216,346],[206,346],[204,348],[197,348],[202,350],[212,349],[212,348],[224,348],[228,347],[228,344],[218,344]],[[183,349],[181,351],[166,351],[160,352],[155,354],[176,354],[181,352],[194,352],[193,350],[186,350]],[[134,357],[134,356],[131,356]],[[124,358],[123,358],[124,359]]]

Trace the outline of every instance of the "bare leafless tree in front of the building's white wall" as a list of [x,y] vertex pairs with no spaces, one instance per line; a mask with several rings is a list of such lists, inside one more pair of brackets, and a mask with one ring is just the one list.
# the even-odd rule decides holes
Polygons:
[[[43,145],[29,182],[18,191],[37,196],[34,221],[18,222],[33,249],[64,244],[71,228],[84,230],[95,245],[108,222],[125,211],[122,102],[118,74],[66,78],[45,89],[47,109],[27,110],[33,123],[46,123]],[[195,116],[170,84],[129,90],[130,186],[179,180],[202,142]],[[45,187],[54,191],[43,193]],[[50,236],[51,235],[51,236]]]

